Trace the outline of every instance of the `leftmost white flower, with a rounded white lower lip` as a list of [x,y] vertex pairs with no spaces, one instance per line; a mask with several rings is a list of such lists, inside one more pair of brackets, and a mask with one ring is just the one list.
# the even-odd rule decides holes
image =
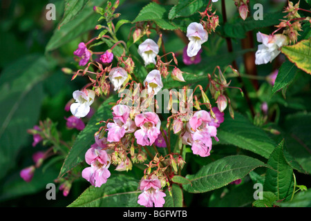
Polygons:
[[90,106],[93,104],[94,98],[94,90],[75,90],[73,92],[75,103],[70,105],[71,113],[77,118],[85,117],[90,112]]

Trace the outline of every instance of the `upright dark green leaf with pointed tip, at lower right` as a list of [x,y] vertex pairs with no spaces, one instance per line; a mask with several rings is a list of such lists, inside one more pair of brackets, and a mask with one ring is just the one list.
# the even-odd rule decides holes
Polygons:
[[276,146],[267,162],[272,169],[267,169],[263,189],[276,195],[277,200],[289,200],[294,191],[292,167],[283,155],[284,140]]

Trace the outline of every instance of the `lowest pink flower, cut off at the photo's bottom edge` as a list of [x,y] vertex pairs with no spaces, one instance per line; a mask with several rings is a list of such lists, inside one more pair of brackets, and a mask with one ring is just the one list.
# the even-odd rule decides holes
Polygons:
[[146,207],[162,207],[166,196],[161,190],[161,182],[156,176],[140,182],[140,190],[143,191],[138,196],[138,204]]

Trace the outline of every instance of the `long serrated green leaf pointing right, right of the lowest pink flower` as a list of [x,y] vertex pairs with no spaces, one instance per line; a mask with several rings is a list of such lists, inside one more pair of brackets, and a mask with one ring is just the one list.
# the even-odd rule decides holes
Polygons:
[[191,181],[191,184],[184,184],[182,187],[190,193],[205,193],[245,177],[258,166],[265,166],[265,164],[246,155],[223,157],[202,166],[195,175],[187,175],[186,178]]

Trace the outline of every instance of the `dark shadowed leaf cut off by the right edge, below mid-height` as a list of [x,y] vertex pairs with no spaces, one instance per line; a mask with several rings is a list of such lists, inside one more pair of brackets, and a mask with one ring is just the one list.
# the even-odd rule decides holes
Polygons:
[[[300,166],[302,173],[311,173],[311,113],[296,113],[285,118],[286,151]],[[286,155],[285,155],[286,157]],[[288,159],[288,157],[287,157]],[[296,168],[295,168],[296,169]]]

